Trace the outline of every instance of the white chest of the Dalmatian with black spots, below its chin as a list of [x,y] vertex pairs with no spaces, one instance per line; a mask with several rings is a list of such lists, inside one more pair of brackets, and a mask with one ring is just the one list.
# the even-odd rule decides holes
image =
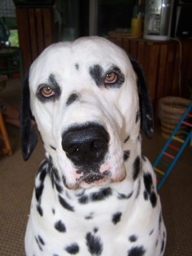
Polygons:
[[[33,252],[27,249],[29,256],[154,252],[160,225],[159,200],[156,209],[152,209],[150,200],[143,200],[135,187],[126,194],[110,186],[69,194],[62,189],[61,180],[48,170],[49,163],[45,161],[36,176],[26,232],[26,248],[33,248]],[[142,214],[138,203],[143,207]],[[154,219],[151,210],[157,211]],[[145,237],[150,237],[150,244],[146,245]]]

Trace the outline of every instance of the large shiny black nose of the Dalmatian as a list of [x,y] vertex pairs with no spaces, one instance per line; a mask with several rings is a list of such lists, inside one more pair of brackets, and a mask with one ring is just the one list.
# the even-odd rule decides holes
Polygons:
[[108,151],[109,135],[99,124],[74,126],[63,133],[62,148],[77,166],[92,166]]

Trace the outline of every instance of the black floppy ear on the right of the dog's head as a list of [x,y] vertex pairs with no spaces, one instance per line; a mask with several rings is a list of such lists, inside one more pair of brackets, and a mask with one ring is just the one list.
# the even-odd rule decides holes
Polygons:
[[147,81],[145,80],[145,75],[143,70],[132,56],[129,55],[129,59],[131,61],[134,72],[138,77],[138,94],[140,100],[140,112],[141,112],[141,128],[145,135],[148,138],[152,137],[154,132],[154,117],[152,110],[152,103],[150,101],[150,96],[148,94],[148,86]]

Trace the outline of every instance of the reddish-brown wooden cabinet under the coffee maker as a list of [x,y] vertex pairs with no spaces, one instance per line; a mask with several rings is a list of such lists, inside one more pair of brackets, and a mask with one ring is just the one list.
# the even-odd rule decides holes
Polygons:
[[[157,124],[157,103],[164,96],[190,97],[192,40],[151,41],[109,36],[140,62],[145,73]],[[192,87],[192,85],[191,85]]]

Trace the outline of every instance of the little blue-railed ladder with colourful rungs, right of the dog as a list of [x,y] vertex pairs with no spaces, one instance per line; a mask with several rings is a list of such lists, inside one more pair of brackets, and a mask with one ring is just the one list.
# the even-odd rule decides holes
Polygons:
[[[168,141],[166,141],[166,144],[164,144],[163,149],[161,150],[161,152],[159,153],[159,155],[156,158],[156,161],[152,165],[154,167],[154,171],[163,175],[161,180],[157,183],[157,189],[161,188],[164,181],[166,180],[166,178],[168,177],[168,175],[172,171],[173,166],[175,165],[175,163],[179,159],[182,151],[184,150],[184,148],[188,144],[189,140],[192,138],[192,119],[191,119],[192,114],[190,113],[191,110],[192,110],[192,102],[189,104],[188,108],[186,109],[186,111],[182,115],[179,123],[177,124],[177,126],[173,130],[173,132],[170,135]],[[189,120],[191,119],[190,120],[191,123],[190,123],[190,121],[185,120],[187,117],[189,117]],[[181,125],[188,126],[189,127],[189,132],[186,132],[185,130],[182,130],[180,128]],[[186,138],[184,140],[180,139],[176,135],[177,132],[181,132]],[[179,144],[179,146],[175,146],[174,142],[177,142],[177,144]],[[169,149],[172,150],[173,153],[169,153]],[[164,158],[166,158],[166,161],[168,160],[169,162],[165,162]],[[167,168],[166,171],[164,171],[164,172],[161,171],[161,169],[157,168],[158,167],[157,165],[165,166]]]

